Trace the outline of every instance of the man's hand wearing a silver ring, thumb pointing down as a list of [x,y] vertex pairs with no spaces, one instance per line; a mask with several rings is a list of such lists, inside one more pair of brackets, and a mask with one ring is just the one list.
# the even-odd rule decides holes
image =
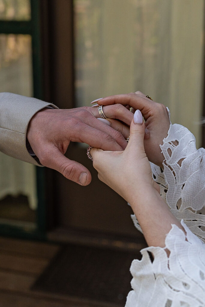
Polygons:
[[89,185],[89,170],[64,156],[70,141],[85,142],[103,150],[124,150],[129,128],[113,119],[128,124],[133,118],[133,114],[121,105],[106,106],[103,111],[109,118],[105,120],[107,124],[97,119],[100,118],[97,107],[38,111],[30,120],[27,139],[41,164],[80,185]]

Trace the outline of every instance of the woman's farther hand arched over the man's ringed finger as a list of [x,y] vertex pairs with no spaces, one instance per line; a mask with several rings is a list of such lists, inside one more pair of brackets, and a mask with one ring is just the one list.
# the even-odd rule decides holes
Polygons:
[[160,144],[167,137],[170,120],[166,107],[161,103],[156,103],[147,98],[143,93],[129,93],[105,97],[96,101],[103,106],[119,104],[129,105],[134,109],[139,109],[145,119],[145,126],[150,132],[150,138],[144,138],[144,148],[149,161],[162,167],[164,156],[161,153]]

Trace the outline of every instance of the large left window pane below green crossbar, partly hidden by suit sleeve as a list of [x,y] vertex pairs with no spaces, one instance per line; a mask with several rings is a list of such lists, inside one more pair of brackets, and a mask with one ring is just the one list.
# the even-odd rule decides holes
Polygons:
[[[31,37],[1,34],[0,92],[32,96],[32,84]],[[20,220],[33,227],[37,207],[34,165],[0,153],[0,173],[0,223],[12,221],[14,225]]]

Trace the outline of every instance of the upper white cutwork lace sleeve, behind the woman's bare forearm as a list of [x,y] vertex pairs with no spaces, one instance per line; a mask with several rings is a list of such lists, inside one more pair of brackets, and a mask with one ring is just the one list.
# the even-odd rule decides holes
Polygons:
[[[205,241],[205,149],[196,149],[194,135],[184,126],[171,124],[167,138],[160,145],[164,171],[151,164],[160,194],[173,215],[184,220],[189,229]],[[136,217],[132,220],[141,231]]]

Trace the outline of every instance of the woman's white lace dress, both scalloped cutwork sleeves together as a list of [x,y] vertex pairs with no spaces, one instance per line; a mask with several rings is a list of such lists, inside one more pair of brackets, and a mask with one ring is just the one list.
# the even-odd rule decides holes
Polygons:
[[[187,235],[172,225],[166,247],[141,250],[130,271],[132,291],[126,307],[205,306],[205,150],[196,150],[195,137],[185,127],[170,125],[160,146],[164,171],[151,163],[162,197],[181,221]],[[140,225],[133,215],[138,230]],[[170,251],[169,257],[165,248]],[[154,261],[149,257],[152,252]]]

